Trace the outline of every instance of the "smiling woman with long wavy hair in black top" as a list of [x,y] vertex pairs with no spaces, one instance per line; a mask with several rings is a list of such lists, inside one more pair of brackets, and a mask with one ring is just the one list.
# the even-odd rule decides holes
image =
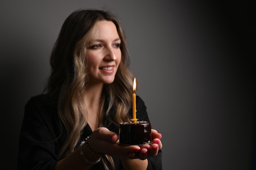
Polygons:
[[[162,169],[156,130],[151,145],[116,143],[120,122],[131,119],[133,80],[117,18],[99,10],[72,13],[50,64],[47,93],[25,106],[19,170]],[[136,101],[137,118],[149,121],[144,102]]]

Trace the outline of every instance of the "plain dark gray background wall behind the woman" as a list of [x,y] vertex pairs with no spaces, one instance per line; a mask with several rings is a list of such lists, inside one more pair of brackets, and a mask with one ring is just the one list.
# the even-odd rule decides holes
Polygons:
[[16,169],[25,103],[42,92],[61,25],[80,8],[120,18],[137,95],[163,135],[164,170],[251,169],[255,1],[230,2],[1,1],[0,169]]

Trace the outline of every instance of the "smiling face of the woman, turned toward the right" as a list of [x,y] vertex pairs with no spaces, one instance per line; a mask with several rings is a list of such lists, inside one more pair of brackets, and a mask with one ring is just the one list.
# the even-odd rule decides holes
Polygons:
[[89,83],[110,84],[114,81],[121,62],[121,40],[111,21],[99,21],[97,29],[97,38],[86,49]]

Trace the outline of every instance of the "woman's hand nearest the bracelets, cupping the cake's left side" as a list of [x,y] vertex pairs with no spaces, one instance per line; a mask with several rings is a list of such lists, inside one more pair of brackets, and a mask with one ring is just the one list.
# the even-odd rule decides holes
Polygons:
[[139,146],[124,146],[116,144],[118,135],[107,128],[97,128],[88,139],[88,145],[92,150],[110,156],[130,155],[139,152]]

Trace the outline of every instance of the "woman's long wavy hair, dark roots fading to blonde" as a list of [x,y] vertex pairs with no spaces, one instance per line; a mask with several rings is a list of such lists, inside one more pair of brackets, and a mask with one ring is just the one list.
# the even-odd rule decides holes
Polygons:
[[[133,75],[128,68],[126,40],[119,20],[107,11],[74,11],[65,20],[52,50],[51,75],[47,84],[47,92],[53,99],[58,100],[58,116],[67,131],[67,139],[59,153],[60,157],[74,151],[87,124],[88,113],[84,101],[85,87],[88,84],[86,49],[90,40],[97,36],[97,22],[101,20],[112,21],[117,28],[121,39],[121,63],[114,82],[103,86],[97,127],[106,126],[105,119],[109,119],[110,108],[113,106],[116,113],[110,121],[119,125],[120,122],[129,120]],[[108,106],[104,106],[105,103],[108,103]]]

